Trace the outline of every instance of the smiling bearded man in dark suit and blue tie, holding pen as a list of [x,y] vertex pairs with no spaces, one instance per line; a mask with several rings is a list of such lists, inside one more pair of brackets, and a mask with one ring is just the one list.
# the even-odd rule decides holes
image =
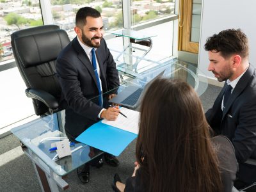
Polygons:
[[[101,118],[115,120],[120,109],[104,106],[106,100],[115,97],[119,86],[118,71],[103,36],[100,13],[90,7],[76,14],[76,38],[61,51],[56,61],[56,70],[61,86],[61,107],[66,108],[65,131],[74,140],[90,125]],[[105,94],[104,94],[105,93]],[[96,99],[93,99],[97,97]],[[90,154],[93,154],[91,148]],[[115,156],[104,154],[106,163],[118,166]],[[102,166],[101,157],[90,164]],[[77,170],[79,179],[89,181],[89,165]]]

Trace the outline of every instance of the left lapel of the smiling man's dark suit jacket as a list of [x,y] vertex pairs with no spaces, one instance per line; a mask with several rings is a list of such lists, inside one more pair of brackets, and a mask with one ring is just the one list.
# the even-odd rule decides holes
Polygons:
[[81,45],[79,44],[79,42],[77,40],[77,37],[74,38],[74,48],[77,51],[77,58],[88,69],[88,72],[92,76],[92,79],[93,79],[95,85],[97,86],[97,79],[95,77],[95,73],[94,73],[94,70],[93,70],[93,67],[92,67],[92,63],[91,63],[90,59],[88,58],[86,52],[84,52],[83,47],[81,47]]

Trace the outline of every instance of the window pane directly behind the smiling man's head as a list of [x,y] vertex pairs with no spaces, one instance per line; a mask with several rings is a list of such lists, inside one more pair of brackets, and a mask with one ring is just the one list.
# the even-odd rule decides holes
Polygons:
[[102,15],[104,30],[123,28],[123,12],[121,0],[93,1],[93,0],[51,0],[51,10],[54,24],[67,31],[70,39],[76,36],[76,12],[79,8],[90,6]]

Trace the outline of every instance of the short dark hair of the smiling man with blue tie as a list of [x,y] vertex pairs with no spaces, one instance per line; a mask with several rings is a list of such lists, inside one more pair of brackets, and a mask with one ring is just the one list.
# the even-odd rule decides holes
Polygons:
[[79,28],[83,28],[86,25],[86,17],[98,18],[101,17],[100,12],[97,10],[85,6],[80,8],[76,13],[76,26]]

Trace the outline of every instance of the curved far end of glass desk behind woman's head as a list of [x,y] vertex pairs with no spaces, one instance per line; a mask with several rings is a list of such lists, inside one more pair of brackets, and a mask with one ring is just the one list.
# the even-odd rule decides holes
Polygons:
[[[139,65],[140,66],[140,65]],[[163,77],[171,79],[182,79],[190,84],[198,94],[202,95],[208,86],[207,77],[193,64],[189,64],[183,61],[173,59],[166,61],[166,63],[152,63],[150,66],[141,66],[136,73],[130,70],[129,67],[120,67],[117,65],[118,70],[121,72],[122,86],[118,89],[118,92],[124,90],[129,85],[136,85],[143,88],[151,79],[157,76],[164,70]],[[125,77],[130,77],[125,79]],[[132,79],[132,77],[134,79]]]

